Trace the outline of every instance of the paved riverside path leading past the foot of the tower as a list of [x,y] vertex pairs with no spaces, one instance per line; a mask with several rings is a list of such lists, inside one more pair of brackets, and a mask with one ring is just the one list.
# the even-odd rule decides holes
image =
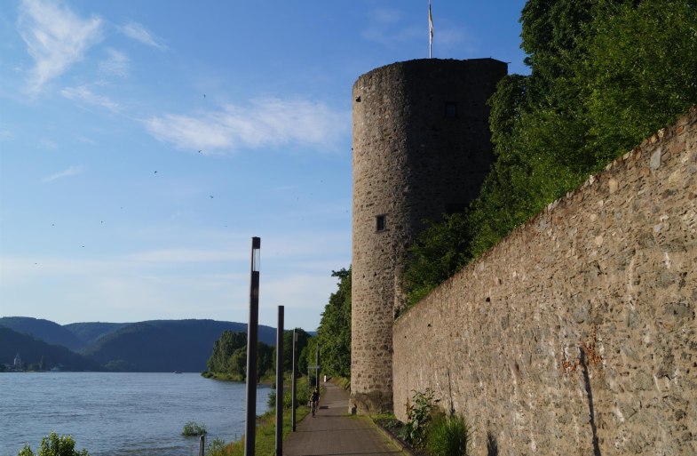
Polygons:
[[348,393],[324,383],[320,410],[297,423],[283,441],[285,456],[406,456],[365,416],[350,416]]

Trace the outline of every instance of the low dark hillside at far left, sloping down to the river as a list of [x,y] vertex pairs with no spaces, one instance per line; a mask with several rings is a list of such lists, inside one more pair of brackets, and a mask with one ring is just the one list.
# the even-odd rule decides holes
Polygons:
[[20,354],[22,362],[39,364],[44,356],[45,369],[60,366],[64,371],[101,371],[99,364],[78,355],[65,347],[49,345],[28,334],[0,326],[0,364],[12,364],[14,356]]

